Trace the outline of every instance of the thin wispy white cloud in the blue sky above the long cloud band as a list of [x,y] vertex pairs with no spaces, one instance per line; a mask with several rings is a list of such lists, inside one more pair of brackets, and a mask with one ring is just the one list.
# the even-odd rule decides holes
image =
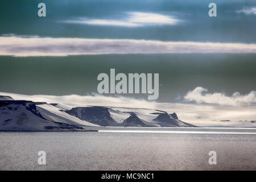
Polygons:
[[65,20],[63,23],[78,23],[91,24],[98,26],[123,26],[123,27],[141,27],[141,26],[156,26],[156,25],[172,25],[180,20],[172,16],[156,14],[156,13],[142,13],[142,12],[128,12],[125,19],[89,19],[78,18],[76,20]]

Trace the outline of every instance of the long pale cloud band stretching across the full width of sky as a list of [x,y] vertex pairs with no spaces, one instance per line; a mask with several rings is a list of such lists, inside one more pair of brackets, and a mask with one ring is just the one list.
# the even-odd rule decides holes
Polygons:
[[214,52],[255,53],[256,44],[0,36],[0,55],[5,56],[68,56],[129,53]]

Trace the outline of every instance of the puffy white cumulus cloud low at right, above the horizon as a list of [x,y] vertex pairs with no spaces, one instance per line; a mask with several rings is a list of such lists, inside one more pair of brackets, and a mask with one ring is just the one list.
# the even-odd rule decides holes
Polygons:
[[185,101],[196,102],[197,104],[217,104],[217,105],[251,105],[256,104],[256,92],[251,91],[249,94],[241,95],[239,92],[233,93],[232,96],[226,96],[224,93],[208,93],[208,90],[197,87],[184,96]]

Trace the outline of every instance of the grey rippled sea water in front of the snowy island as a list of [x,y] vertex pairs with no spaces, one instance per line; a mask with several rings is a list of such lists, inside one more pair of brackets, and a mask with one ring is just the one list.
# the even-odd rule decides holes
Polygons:
[[[256,130],[104,128],[0,133],[1,170],[256,169]],[[203,133],[202,133],[203,132]],[[46,165],[38,164],[46,151]],[[209,151],[217,164],[209,165]]]

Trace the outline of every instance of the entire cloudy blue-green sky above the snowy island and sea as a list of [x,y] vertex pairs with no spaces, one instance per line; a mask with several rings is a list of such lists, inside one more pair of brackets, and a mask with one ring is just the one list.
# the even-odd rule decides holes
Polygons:
[[[46,3],[46,17],[38,16],[40,2]],[[209,17],[211,2],[1,1],[0,91],[93,97],[98,104],[98,74],[110,74],[110,68],[159,73],[154,103],[178,110],[185,122],[254,126],[256,2],[214,0],[217,17]],[[100,98],[116,103],[109,97],[149,102],[147,94]],[[116,104],[123,106],[120,101]],[[198,106],[193,119],[186,115],[191,105]],[[206,106],[225,119],[213,118]]]

